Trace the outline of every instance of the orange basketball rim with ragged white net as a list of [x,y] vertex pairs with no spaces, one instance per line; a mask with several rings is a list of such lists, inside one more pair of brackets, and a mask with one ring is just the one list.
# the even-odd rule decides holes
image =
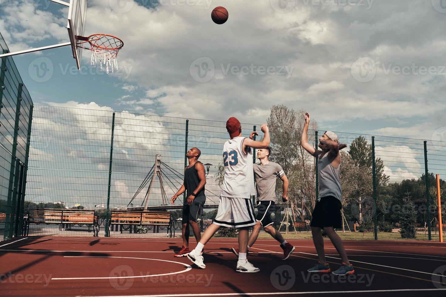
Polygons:
[[99,59],[99,65],[102,69],[102,64],[107,68],[118,69],[118,52],[124,46],[124,42],[118,37],[107,34],[92,34],[89,37],[78,36],[77,46],[83,49],[91,50],[91,65],[97,65]]

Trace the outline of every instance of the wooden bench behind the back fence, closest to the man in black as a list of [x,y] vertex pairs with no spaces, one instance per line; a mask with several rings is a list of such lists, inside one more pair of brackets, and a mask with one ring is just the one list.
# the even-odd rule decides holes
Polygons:
[[[140,226],[146,230],[153,229],[153,233],[159,233],[159,230],[167,229],[169,235],[170,228],[170,212],[149,212],[149,211],[111,211],[108,223],[110,231],[129,230],[130,233],[137,233]],[[113,230],[114,229],[114,230]],[[145,232],[147,233],[147,232]]]

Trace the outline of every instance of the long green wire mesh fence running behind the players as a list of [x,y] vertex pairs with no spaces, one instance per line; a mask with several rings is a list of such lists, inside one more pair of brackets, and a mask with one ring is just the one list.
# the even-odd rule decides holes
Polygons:
[[[249,136],[260,125],[242,124],[242,128],[243,136]],[[283,204],[278,180],[275,226],[286,230],[281,222],[289,214],[286,236],[311,238],[308,223],[318,195],[315,159],[300,146],[301,130],[270,129],[270,159],[282,165],[290,181],[290,201]],[[206,164],[202,228],[215,217],[223,178],[221,152],[227,140],[224,122],[35,106],[32,132],[25,213],[30,208],[89,209],[97,217],[99,236],[171,236],[172,229],[167,227],[150,227],[141,234],[125,224],[108,225],[113,210],[145,207],[171,212],[171,228],[178,236],[183,197],[174,205],[170,199],[182,184],[186,151],[198,147],[200,161]],[[317,146],[324,132],[310,130],[311,145]],[[341,151],[344,197],[339,234],[364,240],[438,240],[434,174],[440,175],[442,191],[446,191],[446,143],[427,140],[425,152],[424,140],[338,135],[348,145]],[[306,222],[306,227],[294,233],[292,220]],[[29,227],[29,235],[95,234],[87,224]]]

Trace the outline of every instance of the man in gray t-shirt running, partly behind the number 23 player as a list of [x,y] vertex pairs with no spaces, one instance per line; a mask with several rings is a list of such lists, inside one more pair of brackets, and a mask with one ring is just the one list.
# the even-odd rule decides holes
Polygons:
[[[254,164],[254,178],[256,179],[257,190],[257,224],[254,226],[251,235],[248,240],[248,250],[256,242],[257,236],[259,236],[260,228],[268,232],[275,240],[280,242],[283,249],[282,260],[288,259],[289,255],[294,251],[294,247],[286,242],[281,233],[273,227],[273,220],[271,220],[271,214],[274,212],[274,204],[276,202],[276,181],[277,178],[283,181],[283,193],[282,201],[287,202],[288,197],[288,179],[283,171],[282,167],[274,162],[268,160],[268,156],[271,154],[270,148],[258,149],[257,159],[260,160],[260,164]],[[237,248],[232,248],[232,252],[238,254]]]

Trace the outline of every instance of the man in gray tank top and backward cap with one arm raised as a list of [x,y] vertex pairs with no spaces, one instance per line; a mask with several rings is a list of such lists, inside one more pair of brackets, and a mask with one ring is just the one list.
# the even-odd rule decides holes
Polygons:
[[353,265],[348,261],[342,240],[335,232],[335,228],[342,227],[342,189],[339,181],[341,154],[339,154],[339,150],[347,147],[347,145],[339,144],[339,137],[334,132],[326,131],[319,138],[319,148],[321,150],[316,150],[308,143],[307,134],[310,124],[310,114],[306,113],[304,118],[305,125],[302,130],[301,146],[318,159],[319,174],[319,199],[311,214],[310,223],[314,247],[319,256],[319,264],[308,269],[308,272],[330,272],[330,266],[326,262],[324,253],[324,239],[321,233],[321,229],[323,229],[342,259],[341,267],[334,271],[333,274],[352,274],[355,272]]

